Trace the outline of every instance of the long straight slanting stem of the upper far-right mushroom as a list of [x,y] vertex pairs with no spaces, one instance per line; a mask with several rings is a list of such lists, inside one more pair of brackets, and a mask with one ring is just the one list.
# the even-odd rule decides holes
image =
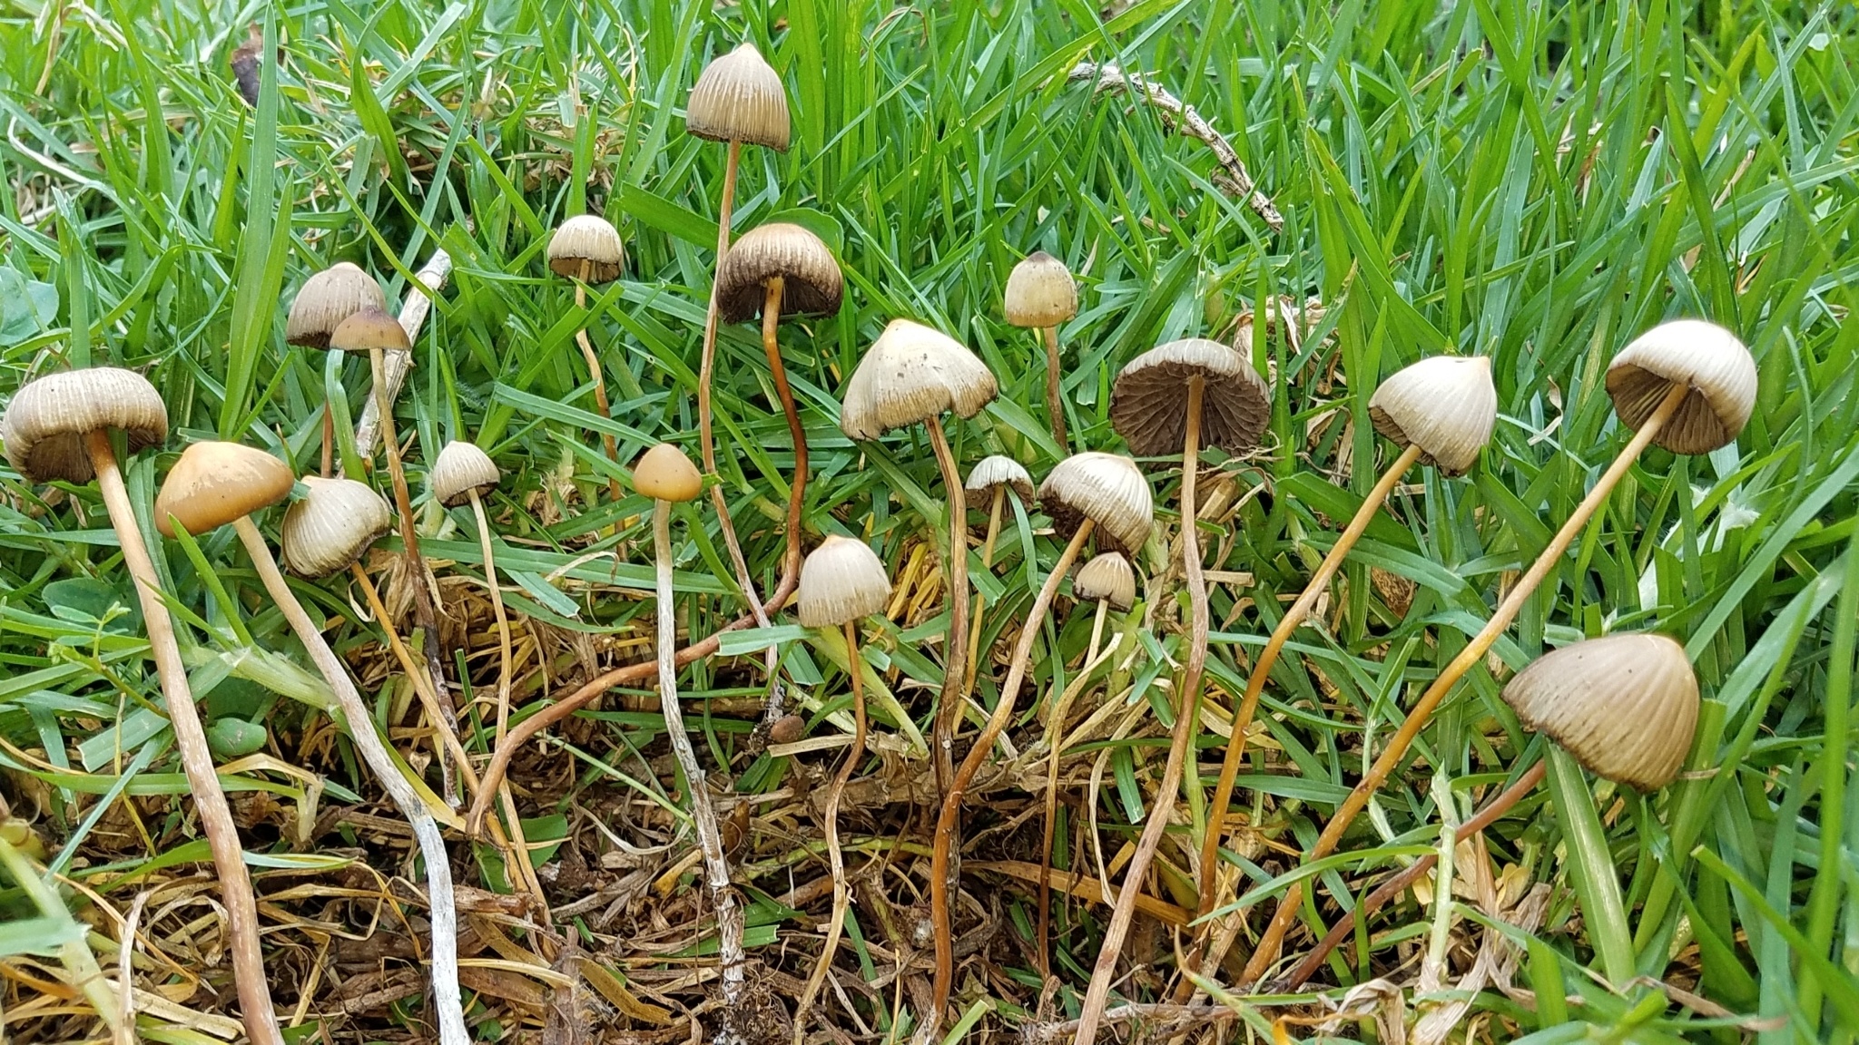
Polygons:
[[[1329,818],[1329,824],[1324,826],[1324,833],[1303,857],[1307,863],[1324,859],[1335,852],[1337,842],[1342,840],[1342,831],[1348,829],[1350,822],[1355,820],[1355,814],[1368,805],[1368,798],[1381,787],[1381,781],[1385,781],[1400,764],[1402,757],[1407,755],[1407,747],[1411,747],[1415,738],[1420,736],[1420,729],[1426,725],[1426,720],[1431,718],[1439,701],[1446,699],[1446,694],[1452,692],[1452,686],[1457,684],[1467,671],[1483,662],[1491,643],[1495,643],[1498,636],[1510,628],[1517,612],[1523,610],[1524,601],[1536,593],[1536,588],[1543,584],[1549,571],[1562,562],[1562,554],[1569,550],[1575,536],[1580,534],[1582,528],[1588,526],[1588,519],[1602,504],[1606,504],[1608,495],[1614,493],[1614,485],[1621,482],[1621,476],[1625,476],[1628,469],[1632,469],[1632,463],[1653,443],[1658,431],[1666,428],[1671,415],[1679,413],[1679,405],[1690,390],[1690,385],[1675,383],[1671,390],[1666,392],[1666,398],[1658,403],[1658,409],[1653,411],[1653,417],[1645,418],[1645,424],[1640,426],[1640,431],[1636,431],[1627,446],[1621,448],[1619,456],[1614,457],[1608,470],[1602,472],[1601,480],[1595,482],[1595,487],[1588,491],[1588,496],[1584,496],[1575,508],[1569,521],[1562,524],[1562,530],[1556,530],[1556,536],[1550,537],[1543,554],[1530,563],[1530,571],[1517,578],[1517,586],[1511,588],[1510,595],[1506,595],[1502,602],[1498,602],[1498,608],[1491,614],[1485,627],[1465,643],[1465,649],[1459,651],[1450,664],[1446,664],[1446,669],[1439,673],[1439,679],[1433,679],[1433,684],[1420,694],[1420,699],[1415,701],[1405,721],[1402,721],[1402,727],[1392,738],[1389,738],[1387,749],[1383,749],[1381,757],[1378,757],[1374,766],[1368,768],[1368,775],[1365,775],[1355,788],[1350,790],[1348,798],[1342,800],[1342,805],[1338,805],[1337,813]],[[1240,976],[1242,984],[1257,982],[1264,976],[1266,967],[1277,959],[1279,950],[1285,945],[1285,932],[1290,930],[1290,922],[1298,917],[1298,904],[1301,900],[1303,887],[1301,883],[1294,883],[1285,893],[1285,898],[1279,900],[1277,911],[1272,915],[1272,924],[1266,926],[1264,935],[1259,939],[1259,948],[1253,950],[1251,959],[1246,961],[1246,972]],[[1214,959],[1220,958],[1225,956],[1214,956]]]

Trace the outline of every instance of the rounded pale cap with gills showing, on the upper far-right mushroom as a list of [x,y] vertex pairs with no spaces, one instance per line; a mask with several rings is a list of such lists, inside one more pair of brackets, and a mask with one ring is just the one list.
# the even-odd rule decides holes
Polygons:
[[1755,359],[1731,331],[1705,320],[1660,324],[1608,363],[1608,394],[1621,424],[1638,430],[1673,383],[1692,394],[1653,437],[1673,454],[1708,454],[1734,443],[1755,411]]

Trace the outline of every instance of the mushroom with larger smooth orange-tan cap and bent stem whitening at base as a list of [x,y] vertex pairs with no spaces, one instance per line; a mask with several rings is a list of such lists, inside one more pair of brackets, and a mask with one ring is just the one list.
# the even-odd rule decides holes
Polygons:
[[402,775],[400,766],[394,764],[387,744],[376,733],[368,703],[361,699],[342,662],[329,649],[310,615],[303,612],[303,604],[297,602],[284,575],[277,569],[277,560],[271,558],[264,534],[251,521],[253,511],[262,511],[290,496],[292,485],[290,465],[264,450],[238,443],[195,443],[180,454],[173,470],[167,472],[167,480],[154,498],[154,524],[164,536],[173,537],[177,526],[188,534],[206,534],[231,522],[240,543],[245,545],[245,554],[258,569],[264,589],[335,692],[355,738],[355,749],[381,781],[387,796],[400,807],[402,816],[413,826],[420,855],[426,857],[426,891],[433,933],[433,1010],[439,1019],[439,1039],[446,1045],[465,1045],[470,1041],[470,1034],[465,1030],[457,980],[457,906],[452,900],[452,859],[446,855],[439,824]]

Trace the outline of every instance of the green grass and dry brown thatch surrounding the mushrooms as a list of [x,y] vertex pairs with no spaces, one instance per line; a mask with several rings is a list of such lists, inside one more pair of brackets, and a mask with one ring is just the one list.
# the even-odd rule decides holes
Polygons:
[[[1227,853],[1244,876],[1249,932],[1402,718],[1402,697],[1463,647],[1625,443],[1599,381],[1608,357],[1662,318],[1718,320],[1760,368],[1740,443],[1641,459],[1491,671],[1474,671],[1428,727],[1346,857],[1320,866],[1286,954],[1309,950],[1391,868],[1439,846],[1443,820],[1465,818],[1541,753],[1498,688],[1547,647],[1634,628],[1682,640],[1705,694],[1692,772],[1643,798],[1589,779],[1602,827],[1586,835],[1539,792],[1483,848],[1457,852],[1454,904],[1437,904],[1431,887],[1402,896],[1331,958],[1312,993],[1247,999],[1251,987],[1231,984],[1234,965],[1210,985],[1214,1010],[1236,1017],[1171,1017],[1195,1036],[1270,1036],[1275,1019],[1314,1017],[1376,982],[1353,995],[1355,1017],[1322,1032],[1389,1039],[1391,1026],[1366,1013],[1392,999],[1385,1021],[1433,1021],[1415,1028],[1418,1039],[1444,1039],[1431,1038],[1435,1025],[1457,1017],[1452,1036],[1472,1039],[1565,1041],[1591,1025],[1614,1041],[1850,1041],[1859,796],[1844,707],[1859,608],[1859,338],[1846,320],[1859,271],[1859,13],[1770,0],[1117,7],[481,0],[266,13],[13,0],[0,6],[0,398],[61,366],[147,370],[177,437],[128,469],[143,508],[193,439],[240,439],[314,469],[316,407],[335,394],[346,433],[366,374],[284,346],[294,288],[348,258],[400,301],[442,247],[454,279],[398,417],[413,437],[416,493],[446,439],[478,441],[504,469],[487,508],[519,615],[517,716],[532,714],[600,668],[649,655],[647,502],[606,498],[612,469],[595,431],[617,435],[623,461],[662,439],[695,456],[723,149],[684,132],[682,104],[712,54],[758,43],[788,84],[794,147],[744,152],[734,227],[799,219],[827,238],[848,281],[837,320],[784,335],[814,452],[809,543],[866,537],[898,582],[889,619],[864,638],[896,701],[874,703],[876,753],[840,820],[855,924],[840,987],[812,1026],[838,1041],[890,1041],[916,1025],[928,993],[918,926],[933,811],[913,794],[928,790],[916,736],[941,682],[935,554],[946,530],[920,430],[851,444],[837,428],[838,390],[889,318],[956,335],[1000,377],[996,403],[950,424],[965,465],[1006,452],[1039,476],[1058,450],[1037,342],[1000,320],[1006,273],[1026,251],[1043,247],[1082,279],[1082,311],[1063,331],[1065,390],[1075,441],[1091,448],[1121,446],[1108,387],[1134,353],[1177,337],[1231,338],[1251,303],[1275,296],[1325,305],[1296,342],[1283,324],[1253,338],[1255,363],[1275,377],[1268,450],[1205,456],[1208,569],[1221,573],[1201,787],[1184,788],[1147,885],[1188,906],[1218,731],[1249,656],[1391,454],[1366,424],[1370,390],[1428,353],[1495,361],[1500,420],[1482,465],[1467,480],[1413,472],[1342,571],[1322,627],[1298,632],[1266,692],[1234,809],[1247,829]],[[255,17],[283,63],[247,108],[227,54]],[[1153,108],[1069,86],[1080,60],[1151,73],[1195,106],[1275,201],[1283,231],[1223,192],[1214,154]],[[612,424],[589,413],[573,346],[584,314],[541,257],[547,229],[582,210],[613,219],[628,245],[626,277],[586,312]],[[719,482],[766,588],[792,456],[755,331],[725,329],[719,353]],[[344,452],[361,474],[346,435]],[[1158,534],[1173,534],[1179,470],[1154,461],[1153,476]],[[76,919],[115,978],[123,917],[136,909],[143,1032],[210,1039],[227,1032],[212,1019],[232,997],[210,865],[154,710],[141,628],[112,608],[134,604],[115,539],[95,489],[35,489],[11,472],[0,485],[0,794],[30,822],[30,837],[13,827],[11,839],[28,850],[37,840],[58,876],[58,902],[35,906],[17,885],[0,894],[6,1032],[100,1034],[50,956],[76,939]],[[260,521],[273,536],[275,515]],[[682,625],[703,636],[734,619],[740,599],[706,504],[677,522],[688,528]],[[468,511],[428,502],[422,528],[441,562],[444,660],[467,707],[496,675],[483,567]],[[974,563],[993,651],[976,684],[983,708],[1058,549],[1037,511],[1015,511],[1000,547],[993,573]],[[383,541],[370,567],[389,571],[394,549]],[[1128,656],[1080,695],[1080,707],[1114,705],[1115,729],[1067,751],[1061,779],[1056,865],[1086,883],[1099,861],[1117,863],[1156,803],[1166,747],[1169,697],[1156,681],[1182,642],[1179,584],[1160,537],[1138,558],[1145,601],[1114,623]],[[294,1036],[322,1030],[329,1041],[428,1036],[420,876],[405,827],[333,731],[327,695],[232,536],[195,550],[169,541],[158,560],[208,718],[227,733],[251,733],[238,721],[266,731],[221,764],[281,1017]],[[357,612],[346,582],[299,591],[327,617],[396,746],[437,787],[431,731],[409,710],[379,625]],[[1088,610],[1061,599],[1045,630],[1041,707],[1082,664]],[[725,796],[751,980],[790,1004],[829,909],[809,794],[837,757],[753,751],[766,690],[755,645],[768,640],[809,734],[848,731],[842,647],[794,625],[732,642],[680,684],[716,766],[710,785]],[[465,718],[467,747],[487,755],[481,707]],[[1008,734],[1017,751],[1041,736],[1032,712]],[[697,1034],[692,1013],[714,1026],[701,958],[714,935],[690,863],[686,785],[666,749],[653,694],[615,692],[515,762],[526,833],[550,844],[537,859],[556,928],[587,963],[522,930],[534,913],[498,896],[509,885],[494,850],[450,835],[461,883],[478,889],[463,898],[476,958],[465,985],[481,1038],[535,1032],[550,1004],[558,1034],[587,1039],[682,1041]],[[1037,861],[1034,775],[983,781],[969,818],[959,1030],[1065,1034],[1097,954],[1106,909],[1060,904],[1056,987],[1041,991],[1034,894],[1000,870]],[[1625,924],[1582,911],[1571,887],[1584,874],[1621,881]],[[1547,894],[1532,898],[1536,885]],[[1632,941],[1645,980],[1599,978],[1602,935]],[[1162,999],[1177,941],[1140,920],[1117,991]],[[1467,982],[1482,952],[1511,956],[1508,985]],[[180,1026],[190,1012],[193,1030]],[[1320,1034],[1309,1023],[1281,1032]]]

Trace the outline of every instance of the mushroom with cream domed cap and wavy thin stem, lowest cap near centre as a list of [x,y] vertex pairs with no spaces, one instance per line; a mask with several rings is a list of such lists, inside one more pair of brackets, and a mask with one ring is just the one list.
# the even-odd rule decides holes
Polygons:
[[833,775],[833,787],[825,796],[825,852],[833,868],[833,917],[825,924],[825,945],[814,961],[814,971],[807,978],[807,989],[794,1008],[794,1032],[799,1036],[812,1008],[827,969],[833,967],[833,952],[838,950],[838,937],[844,930],[846,909],[851,906],[851,887],[846,883],[846,859],[838,848],[838,801],[846,792],[846,781],[864,755],[864,668],[859,662],[861,617],[885,612],[890,601],[890,576],[877,552],[864,541],[850,537],[827,537],[814,549],[801,565],[796,610],[801,627],[842,628],[846,634],[846,673],[851,679],[851,749]]

